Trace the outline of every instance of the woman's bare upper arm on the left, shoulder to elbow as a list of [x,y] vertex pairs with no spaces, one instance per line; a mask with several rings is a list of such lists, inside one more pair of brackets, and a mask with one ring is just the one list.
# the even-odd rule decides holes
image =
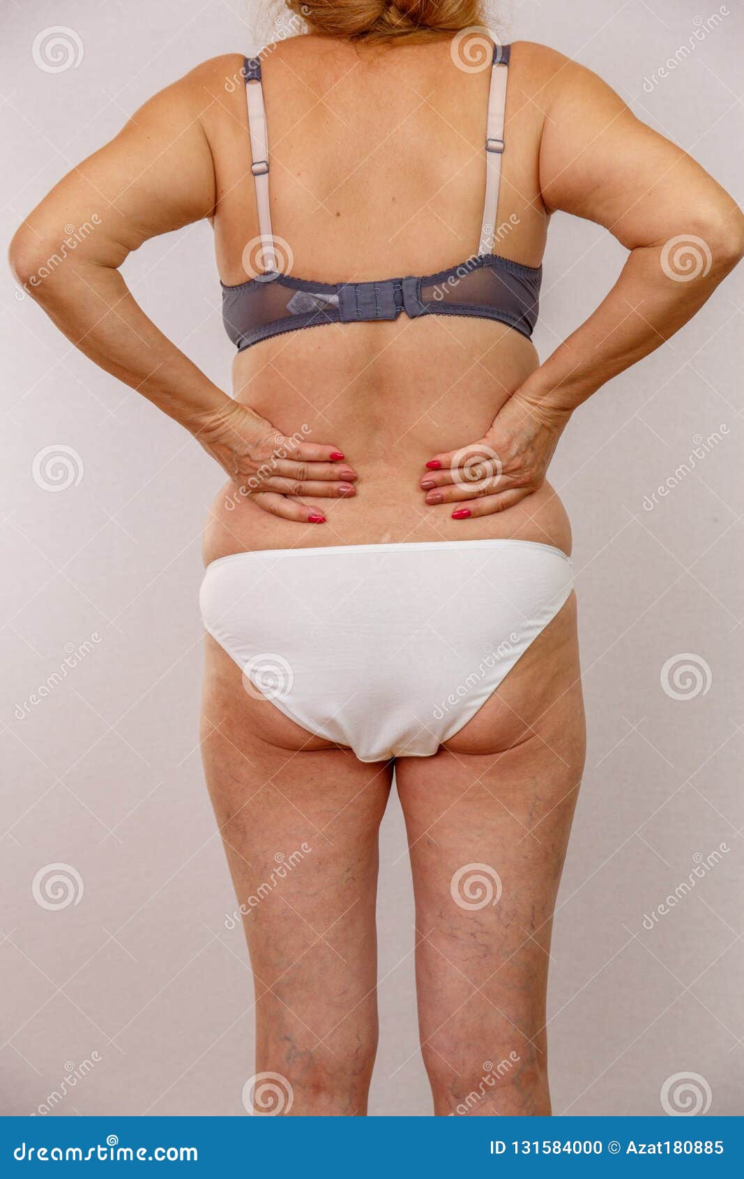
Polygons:
[[79,262],[119,266],[147,238],[212,215],[215,167],[203,119],[224,64],[204,62],[162,90],[52,189],[11,246],[22,281],[70,236],[71,225],[86,226],[75,238]]

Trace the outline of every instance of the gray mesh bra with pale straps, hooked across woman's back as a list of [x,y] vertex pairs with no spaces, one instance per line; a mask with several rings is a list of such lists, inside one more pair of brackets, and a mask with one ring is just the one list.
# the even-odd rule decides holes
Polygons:
[[[261,85],[261,61],[245,58],[243,75],[258,206],[263,274],[225,286],[222,315],[238,351],[262,340],[324,323],[395,320],[419,315],[467,315],[506,323],[529,338],[538,318],[541,266],[524,266],[493,253],[499,205],[503,117],[509,46],[494,45],[486,129],[486,195],[478,253],[421,278],[382,278],[367,283],[316,283],[279,269],[269,210],[269,146]],[[490,213],[490,216],[489,216]]]

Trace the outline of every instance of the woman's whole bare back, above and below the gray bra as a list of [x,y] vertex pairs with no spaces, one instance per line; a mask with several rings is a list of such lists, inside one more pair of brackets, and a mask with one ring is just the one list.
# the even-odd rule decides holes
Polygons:
[[[528,81],[535,54],[539,46],[518,45],[509,65],[494,246],[533,266],[547,229],[536,166],[542,116]],[[222,93],[205,126],[217,177],[217,261],[232,285],[259,271],[261,241],[243,61],[218,62]],[[361,282],[434,274],[478,253],[486,44],[476,44],[467,70],[462,64],[448,40],[381,51],[302,37],[262,57],[279,269],[321,283]],[[482,435],[536,364],[532,343],[505,324],[436,315],[330,324],[245,349],[233,365],[236,399],[287,434],[342,440],[358,480],[353,496],[329,501],[328,527],[303,527],[301,535],[295,521],[268,515],[225,485],[211,508],[205,559],[298,544],[482,536],[568,548],[566,515],[547,485],[525,505],[467,521],[422,501],[426,460]]]

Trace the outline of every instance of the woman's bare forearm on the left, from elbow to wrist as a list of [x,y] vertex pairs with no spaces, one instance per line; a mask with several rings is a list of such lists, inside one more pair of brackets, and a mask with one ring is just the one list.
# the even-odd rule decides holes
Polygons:
[[31,294],[75,348],[191,433],[233,406],[145,315],[116,268],[66,265]]

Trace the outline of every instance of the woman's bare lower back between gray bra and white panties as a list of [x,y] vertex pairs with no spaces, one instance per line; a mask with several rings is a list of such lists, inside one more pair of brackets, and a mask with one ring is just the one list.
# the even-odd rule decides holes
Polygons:
[[[310,329],[238,354],[236,400],[288,436],[333,440],[357,479],[354,494],[312,500],[321,525],[270,515],[226,482],[210,507],[205,564],[249,549],[501,538],[569,553],[568,519],[548,483],[472,519],[453,519],[457,503],[426,503],[421,488],[427,460],[485,434],[536,364],[511,328],[436,316]],[[486,474],[496,473],[498,456],[483,457]]]

